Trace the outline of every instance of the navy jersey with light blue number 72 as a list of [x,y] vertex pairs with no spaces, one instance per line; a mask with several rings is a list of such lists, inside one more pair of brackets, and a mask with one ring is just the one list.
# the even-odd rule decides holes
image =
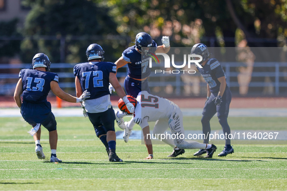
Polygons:
[[109,76],[117,72],[117,66],[110,62],[89,62],[77,64],[74,67],[74,76],[80,80],[83,92],[91,93],[90,98],[96,99],[110,94]]

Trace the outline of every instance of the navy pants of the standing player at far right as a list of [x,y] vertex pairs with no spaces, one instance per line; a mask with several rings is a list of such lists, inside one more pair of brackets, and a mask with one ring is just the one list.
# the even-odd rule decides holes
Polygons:
[[[217,96],[217,94],[216,94]],[[210,119],[215,115],[217,112],[217,117],[219,120],[219,124],[222,127],[223,133],[227,134],[227,139],[225,139],[225,144],[230,144],[230,139],[228,139],[228,135],[230,134],[230,127],[227,123],[227,117],[229,113],[229,105],[231,102],[231,91],[226,86],[223,96],[221,97],[221,103],[219,106],[214,104],[212,101],[215,95],[211,94],[208,101],[205,103],[203,108],[203,118],[202,118],[202,126],[203,126],[203,134],[205,135],[205,139],[203,143],[209,143],[209,134],[210,134]]]

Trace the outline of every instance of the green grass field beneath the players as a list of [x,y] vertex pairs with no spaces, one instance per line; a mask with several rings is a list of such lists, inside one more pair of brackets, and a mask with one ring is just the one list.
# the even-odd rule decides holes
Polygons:
[[[147,157],[140,140],[117,141],[122,163],[108,161],[105,149],[87,118],[57,117],[57,155],[63,163],[39,160],[30,126],[20,117],[0,118],[0,190],[287,190],[287,145],[240,144],[225,158],[194,157],[196,150],[170,159],[168,145],[154,145]],[[229,117],[232,129],[286,130],[287,119]],[[200,130],[200,117],[184,117],[187,130]],[[220,129],[216,118],[212,130]],[[119,128],[116,128],[119,130]],[[135,130],[139,130],[135,127]],[[50,159],[48,131],[41,144]]]

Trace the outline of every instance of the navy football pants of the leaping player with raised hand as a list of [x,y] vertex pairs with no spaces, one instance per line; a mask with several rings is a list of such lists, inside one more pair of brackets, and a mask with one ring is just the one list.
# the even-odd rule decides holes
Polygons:
[[151,93],[151,90],[149,88],[148,79],[147,80],[135,80],[130,78],[129,76],[126,77],[124,81],[124,89],[127,93],[127,95],[137,97],[138,93],[141,91],[147,91],[148,93]]

